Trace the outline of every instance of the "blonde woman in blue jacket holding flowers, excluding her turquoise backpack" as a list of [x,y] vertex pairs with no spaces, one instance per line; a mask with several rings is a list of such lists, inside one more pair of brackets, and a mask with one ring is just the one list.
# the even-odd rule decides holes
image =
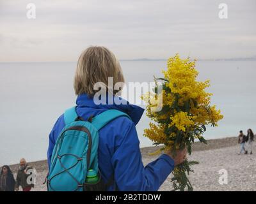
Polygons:
[[[117,96],[110,97],[111,103],[108,100],[107,103],[99,104],[93,100],[93,96],[99,91],[95,90],[94,86],[97,82],[106,85],[108,94],[117,94],[119,90],[115,91],[113,86],[108,85],[109,78],[114,85],[124,82],[122,69],[115,55],[105,47],[89,47],[84,50],[77,62],[74,78],[77,115],[88,120],[92,115],[115,109],[131,117],[131,120],[127,117],[118,117],[99,131],[98,157],[103,181],[106,183],[111,175],[115,175],[114,184],[108,191],[116,188],[119,191],[157,191],[174,166],[184,161],[186,150],[178,151],[175,156],[172,156],[171,152],[166,152],[144,167],[135,128],[143,114],[143,108],[129,103],[124,104],[124,99],[123,103],[116,103],[113,98]],[[54,144],[64,126],[64,117],[61,115],[49,136],[49,167]]]

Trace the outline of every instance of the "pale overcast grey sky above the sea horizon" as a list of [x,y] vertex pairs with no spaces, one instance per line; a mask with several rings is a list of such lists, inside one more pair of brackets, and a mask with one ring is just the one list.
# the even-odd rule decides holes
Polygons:
[[255,0],[0,0],[0,61],[77,61],[90,45],[118,59],[255,57],[255,22]]

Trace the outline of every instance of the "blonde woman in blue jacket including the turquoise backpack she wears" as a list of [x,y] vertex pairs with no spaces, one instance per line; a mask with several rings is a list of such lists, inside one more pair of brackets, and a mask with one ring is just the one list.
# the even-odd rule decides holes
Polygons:
[[[108,86],[109,77],[114,85],[124,82],[115,55],[105,47],[84,50],[74,78],[76,106],[58,118],[49,135],[48,191],[157,191],[186,158],[186,149],[175,156],[170,151],[143,165],[135,126],[144,110],[120,98],[119,90]],[[108,94],[95,97],[97,82]]]

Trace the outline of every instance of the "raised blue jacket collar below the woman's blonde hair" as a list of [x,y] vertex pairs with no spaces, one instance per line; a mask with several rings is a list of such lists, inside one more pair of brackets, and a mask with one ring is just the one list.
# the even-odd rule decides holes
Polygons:
[[[100,103],[100,101],[104,101],[106,103]],[[135,125],[140,121],[141,116],[144,112],[144,109],[140,106],[132,105],[125,99],[122,99],[118,96],[112,96],[112,98],[106,96],[106,98],[95,99],[93,101],[93,97],[90,97],[87,94],[81,94],[77,96],[76,104],[79,107],[103,109],[103,111],[108,109],[120,110],[124,113],[127,113],[127,115],[131,117],[132,122],[134,122]]]

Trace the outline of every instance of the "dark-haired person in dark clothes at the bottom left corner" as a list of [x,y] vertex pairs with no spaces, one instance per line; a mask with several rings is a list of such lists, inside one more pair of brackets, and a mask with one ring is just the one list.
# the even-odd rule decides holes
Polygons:
[[15,179],[9,166],[4,165],[0,174],[0,191],[14,191]]

